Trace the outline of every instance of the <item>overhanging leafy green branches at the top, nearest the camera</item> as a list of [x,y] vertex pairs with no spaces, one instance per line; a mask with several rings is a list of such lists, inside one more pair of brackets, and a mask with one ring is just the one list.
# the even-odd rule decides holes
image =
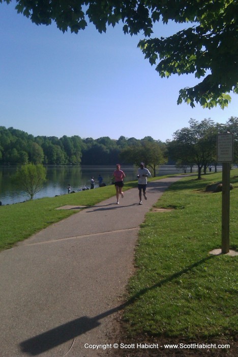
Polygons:
[[[11,0],[0,0],[10,3]],[[238,93],[238,3],[233,0],[16,0],[18,13],[36,24],[56,22],[65,32],[78,33],[88,22],[106,32],[123,22],[124,33],[143,33],[139,41],[145,58],[160,76],[193,73],[202,79],[180,90],[177,104],[185,101],[224,108],[229,92]],[[184,23],[185,29],[167,38],[152,38],[158,21]],[[189,24],[189,26],[188,26]]]

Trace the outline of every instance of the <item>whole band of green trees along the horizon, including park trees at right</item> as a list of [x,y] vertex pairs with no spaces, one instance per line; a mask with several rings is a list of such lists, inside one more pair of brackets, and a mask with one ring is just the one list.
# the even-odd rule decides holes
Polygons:
[[0,126],[0,165],[133,165],[143,161],[156,175],[161,164],[175,164],[187,168],[197,167],[200,178],[202,169],[216,165],[217,134],[230,132],[234,136],[234,161],[238,165],[238,118],[231,117],[225,124],[211,119],[189,120],[189,126],[177,130],[172,140],[162,142],[150,136],[143,139],[117,140],[79,136],[62,138],[37,136],[21,130]]

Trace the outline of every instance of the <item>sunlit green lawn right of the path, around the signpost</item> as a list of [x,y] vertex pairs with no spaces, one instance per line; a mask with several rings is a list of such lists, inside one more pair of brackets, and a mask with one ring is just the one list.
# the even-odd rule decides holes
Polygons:
[[[231,171],[231,177],[238,170]],[[148,213],[139,232],[136,273],[124,311],[126,336],[232,337],[237,331],[237,257],[221,248],[221,193],[205,193],[221,173],[174,183]],[[238,243],[238,179],[231,179],[230,249]]]

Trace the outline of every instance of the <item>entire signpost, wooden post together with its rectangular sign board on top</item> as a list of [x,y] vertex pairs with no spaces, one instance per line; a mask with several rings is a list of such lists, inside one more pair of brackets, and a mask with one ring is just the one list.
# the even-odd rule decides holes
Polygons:
[[222,248],[229,253],[230,234],[230,163],[233,161],[233,134],[218,134],[217,161],[222,162]]

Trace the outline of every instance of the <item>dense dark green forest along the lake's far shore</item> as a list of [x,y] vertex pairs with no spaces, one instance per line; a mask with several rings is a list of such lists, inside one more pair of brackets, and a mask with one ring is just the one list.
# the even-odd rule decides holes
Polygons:
[[122,152],[146,143],[165,147],[152,137],[141,140],[124,136],[118,140],[109,137],[82,139],[77,135],[34,137],[13,127],[0,126],[0,165],[115,165],[120,160],[123,164],[133,164],[134,158],[128,161],[124,155],[123,159]]

